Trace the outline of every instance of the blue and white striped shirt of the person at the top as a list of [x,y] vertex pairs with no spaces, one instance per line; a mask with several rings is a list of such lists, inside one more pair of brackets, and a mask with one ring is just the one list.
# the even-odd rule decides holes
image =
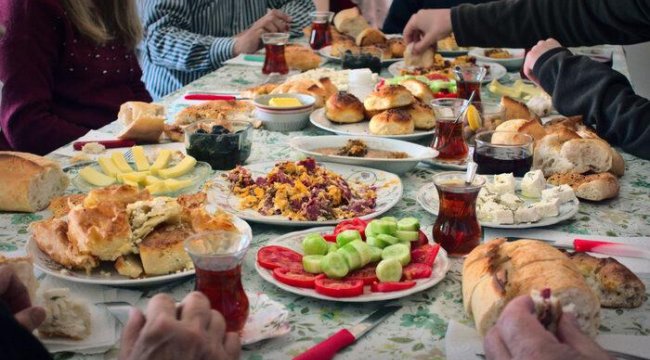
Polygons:
[[143,0],[143,81],[158,99],[222,66],[233,57],[234,36],[280,9],[301,36],[314,10],[311,0]]

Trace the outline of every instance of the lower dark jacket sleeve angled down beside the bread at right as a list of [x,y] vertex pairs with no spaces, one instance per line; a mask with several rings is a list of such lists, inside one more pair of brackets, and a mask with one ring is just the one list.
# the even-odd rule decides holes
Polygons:
[[623,74],[564,48],[540,56],[533,72],[558,112],[582,115],[613,145],[650,160],[650,101]]

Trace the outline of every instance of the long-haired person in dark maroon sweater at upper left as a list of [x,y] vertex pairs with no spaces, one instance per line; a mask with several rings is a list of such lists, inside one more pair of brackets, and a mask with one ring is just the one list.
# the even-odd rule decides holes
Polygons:
[[0,150],[43,155],[151,101],[135,0],[6,0],[0,23]]

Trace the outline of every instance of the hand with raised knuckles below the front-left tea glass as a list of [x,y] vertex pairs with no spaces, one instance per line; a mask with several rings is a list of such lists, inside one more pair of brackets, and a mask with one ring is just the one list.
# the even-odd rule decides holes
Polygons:
[[177,309],[164,294],[154,296],[147,318],[133,308],[124,328],[120,359],[238,359],[239,335],[226,333],[226,322],[199,292],[188,294]]

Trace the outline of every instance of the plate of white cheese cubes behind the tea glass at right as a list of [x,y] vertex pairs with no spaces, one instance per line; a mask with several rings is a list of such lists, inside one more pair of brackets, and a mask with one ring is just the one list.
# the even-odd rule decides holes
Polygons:
[[[416,200],[426,211],[438,215],[440,199],[433,183],[421,187]],[[570,186],[547,184],[542,171],[533,170],[520,179],[512,173],[494,175],[479,192],[476,214],[485,227],[525,229],[571,219],[579,205]]]

